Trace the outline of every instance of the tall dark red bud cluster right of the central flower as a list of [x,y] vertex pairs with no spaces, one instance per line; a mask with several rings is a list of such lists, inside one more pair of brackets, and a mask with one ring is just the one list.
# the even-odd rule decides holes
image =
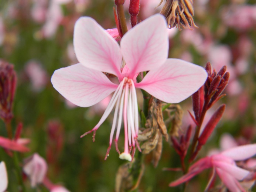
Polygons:
[[207,110],[211,108],[212,105],[215,104],[219,99],[225,96],[225,94],[222,94],[222,92],[227,86],[229,79],[229,72],[226,72],[226,66],[223,66],[217,73],[214,69],[212,71],[212,66],[208,62],[205,66],[205,70],[208,73],[208,78],[206,79],[204,86],[202,86],[192,95],[194,116],[191,113],[190,116],[197,125],[192,148],[196,146],[196,142],[197,147],[193,152],[190,161],[194,160],[202,145],[204,145],[208,138],[211,136],[214,128],[219,123],[219,120],[221,119],[225,110],[225,104],[219,106],[219,108],[204,127],[202,134],[199,136],[200,129],[202,128],[202,122]]

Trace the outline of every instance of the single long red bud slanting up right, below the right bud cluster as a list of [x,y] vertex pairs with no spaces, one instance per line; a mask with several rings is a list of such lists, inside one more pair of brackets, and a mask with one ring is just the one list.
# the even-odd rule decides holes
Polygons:
[[201,136],[198,138],[198,144],[199,145],[204,145],[206,143],[206,141],[208,140],[208,138],[211,136],[212,131],[214,130],[216,125],[219,123],[219,120],[222,117],[222,114],[225,110],[225,107],[226,107],[226,105],[222,104],[216,110],[216,112],[213,114],[211,119],[208,121],[208,123],[206,124],[206,126],[204,128],[204,131],[202,132]]

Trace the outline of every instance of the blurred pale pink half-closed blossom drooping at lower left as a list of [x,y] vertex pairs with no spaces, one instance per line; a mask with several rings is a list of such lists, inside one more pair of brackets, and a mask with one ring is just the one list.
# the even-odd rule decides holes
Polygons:
[[32,187],[43,182],[47,169],[47,162],[37,153],[25,159],[23,166],[23,171],[30,178]]

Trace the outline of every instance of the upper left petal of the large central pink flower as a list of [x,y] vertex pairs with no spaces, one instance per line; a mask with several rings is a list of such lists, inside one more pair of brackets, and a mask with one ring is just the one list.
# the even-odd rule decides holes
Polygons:
[[81,17],[76,21],[74,49],[82,65],[122,77],[122,54],[118,43],[92,18]]

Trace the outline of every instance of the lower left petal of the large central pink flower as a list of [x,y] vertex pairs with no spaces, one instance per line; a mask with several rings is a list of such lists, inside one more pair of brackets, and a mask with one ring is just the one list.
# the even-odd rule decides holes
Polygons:
[[62,96],[80,107],[89,107],[100,102],[118,86],[102,72],[86,68],[82,64],[56,70],[51,82]]

